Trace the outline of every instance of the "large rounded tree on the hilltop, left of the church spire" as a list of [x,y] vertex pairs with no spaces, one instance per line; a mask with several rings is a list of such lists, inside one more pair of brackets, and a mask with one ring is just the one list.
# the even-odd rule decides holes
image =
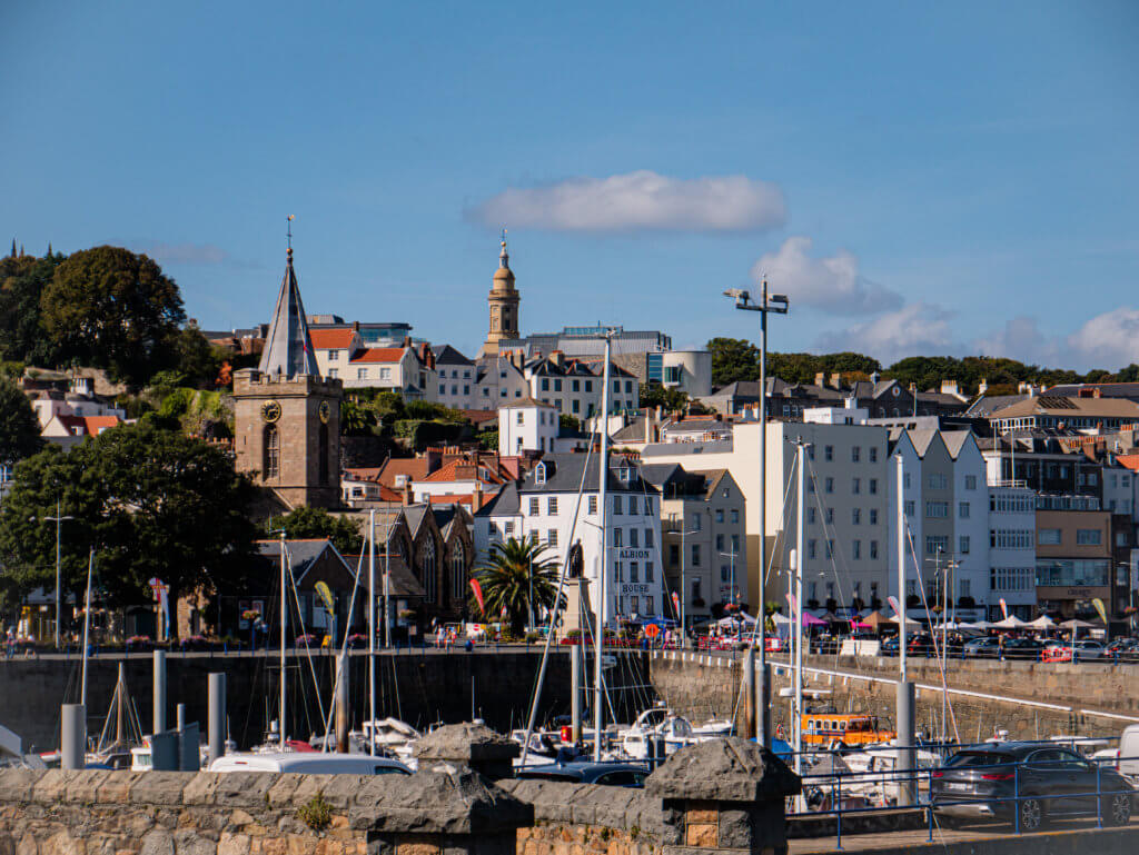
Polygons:
[[141,385],[175,359],[186,320],[174,280],[148,256],[99,246],[56,268],[40,299],[43,328],[68,356]]

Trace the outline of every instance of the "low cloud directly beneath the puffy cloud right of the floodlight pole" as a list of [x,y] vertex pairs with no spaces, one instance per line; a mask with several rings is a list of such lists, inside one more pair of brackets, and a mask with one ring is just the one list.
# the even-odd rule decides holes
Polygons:
[[906,356],[944,356],[957,353],[950,324],[953,313],[931,303],[911,303],[866,323],[823,332],[816,348],[821,352],[854,351],[888,365]]

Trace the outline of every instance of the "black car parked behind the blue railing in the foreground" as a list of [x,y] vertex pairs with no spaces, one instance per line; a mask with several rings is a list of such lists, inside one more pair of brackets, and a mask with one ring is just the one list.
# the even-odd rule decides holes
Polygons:
[[1097,771],[1079,754],[1040,742],[969,748],[932,774],[929,799],[939,814],[1015,823],[1018,813],[1022,831],[1036,831],[1051,817],[1095,816],[1097,808],[1105,824],[1124,825],[1136,798],[1111,766]]

